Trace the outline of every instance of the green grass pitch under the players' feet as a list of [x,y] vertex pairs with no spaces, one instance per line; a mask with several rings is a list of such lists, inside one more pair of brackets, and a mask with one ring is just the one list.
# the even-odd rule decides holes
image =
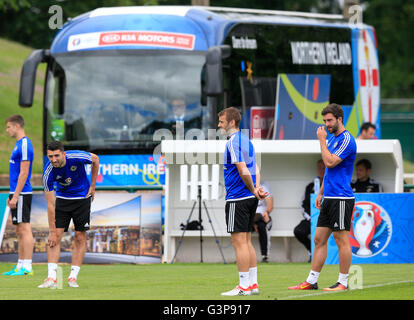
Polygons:
[[[0,273],[12,264],[0,263]],[[62,265],[63,289],[38,289],[47,276],[47,264],[35,264],[33,276],[0,275],[0,300],[413,300],[414,266],[412,264],[361,265],[362,290],[341,293],[291,291],[288,286],[304,281],[307,263],[259,264],[261,294],[250,297],[221,297],[238,282],[235,264],[152,264],[152,265],[84,265],[79,288],[67,287],[69,265]],[[327,265],[319,278],[319,287],[336,282],[338,266]],[[410,281],[410,282],[403,282]],[[401,282],[401,283],[399,283]],[[394,283],[394,284],[392,284]]]

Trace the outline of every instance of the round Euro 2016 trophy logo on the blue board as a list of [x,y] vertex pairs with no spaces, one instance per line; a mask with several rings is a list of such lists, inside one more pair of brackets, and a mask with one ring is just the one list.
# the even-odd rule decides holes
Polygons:
[[392,237],[391,218],[380,205],[370,201],[355,203],[349,242],[352,254],[369,258],[383,251]]

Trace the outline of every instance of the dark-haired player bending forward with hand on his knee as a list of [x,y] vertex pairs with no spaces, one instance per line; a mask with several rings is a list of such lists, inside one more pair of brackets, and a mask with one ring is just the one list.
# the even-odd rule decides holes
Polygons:
[[[90,228],[91,202],[99,171],[97,155],[84,151],[66,151],[63,144],[53,141],[47,145],[49,162],[43,171],[49,220],[48,277],[39,288],[56,288],[56,270],[60,257],[60,241],[68,231],[71,219],[75,226],[72,267],[68,278],[70,287],[78,287],[77,277],[86,250],[86,231]],[[85,165],[92,164],[91,183]],[[56,184],[56,196],[54,192]]]

